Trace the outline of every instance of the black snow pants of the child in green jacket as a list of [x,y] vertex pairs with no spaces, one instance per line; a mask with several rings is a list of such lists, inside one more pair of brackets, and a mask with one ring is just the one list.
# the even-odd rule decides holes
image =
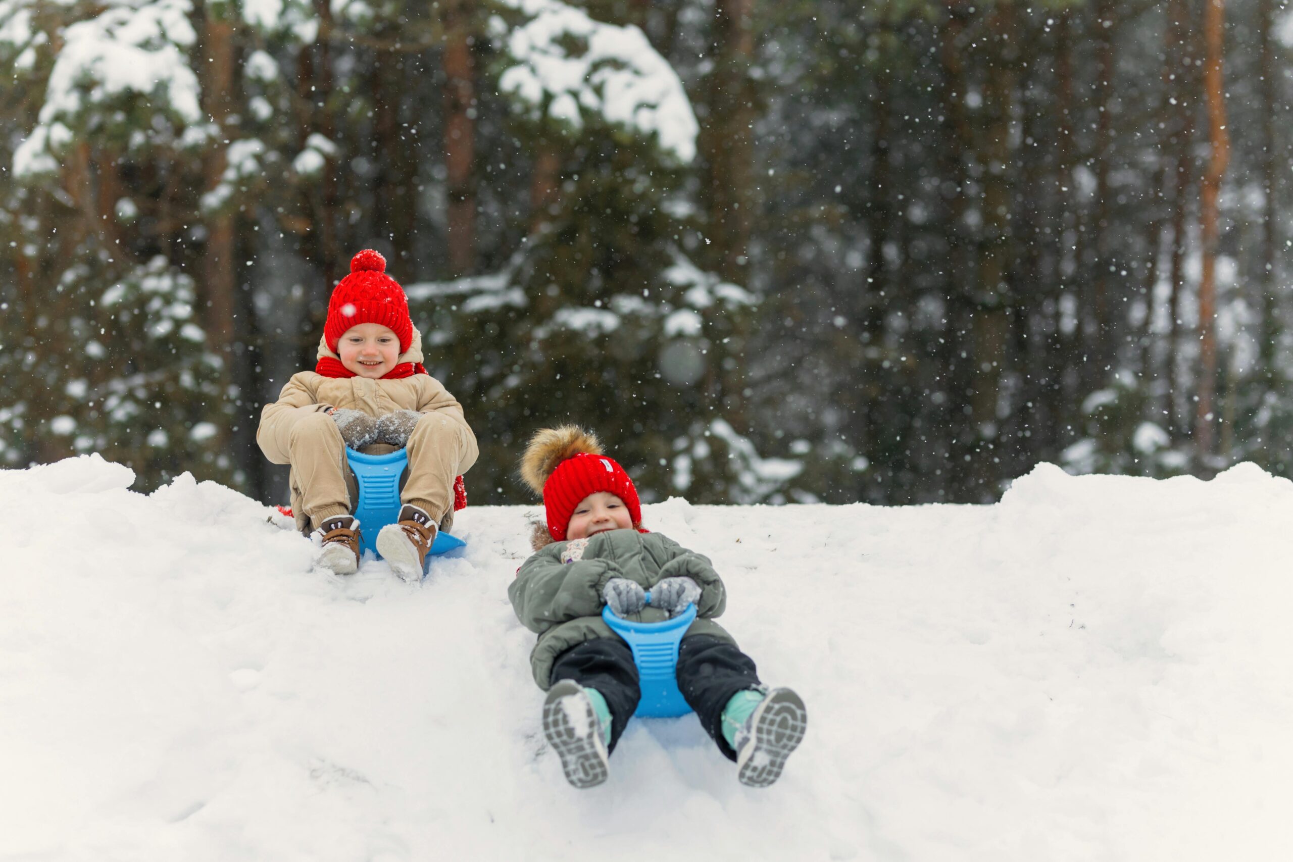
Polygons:
[[[609,750],[614,751],[641,698],[628,645],[618,637],[600,637],[572,646],[552,666],[552,681],[557,680],[574,680],[601,693],[610,707]],[[723,707],[737,691],[758,685],[754,659],[728,641],[692,635],[678,647],[678,689],[728,760],[736,760],[736,752],[723,738]]]

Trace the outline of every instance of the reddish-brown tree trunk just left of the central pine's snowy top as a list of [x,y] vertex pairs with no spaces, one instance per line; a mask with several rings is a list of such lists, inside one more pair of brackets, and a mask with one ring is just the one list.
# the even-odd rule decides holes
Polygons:
[[472,63],[472,0],[447,0],[445,26],[445,169],[449,193],[449,268],[476,269],[476,72]]

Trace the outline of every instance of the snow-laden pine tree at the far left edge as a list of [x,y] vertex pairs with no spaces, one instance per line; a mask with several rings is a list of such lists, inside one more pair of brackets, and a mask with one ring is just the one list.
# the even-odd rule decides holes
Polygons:
[[4,457],[98,451],[145,487],[185,469],[228,481],[226,364],[198,324],[194,279],[163,253],[182,234],[177,189],[208,132],[190,6],[3,12],[12,74],[43,92],[12,156],[21,251],[4,300]]

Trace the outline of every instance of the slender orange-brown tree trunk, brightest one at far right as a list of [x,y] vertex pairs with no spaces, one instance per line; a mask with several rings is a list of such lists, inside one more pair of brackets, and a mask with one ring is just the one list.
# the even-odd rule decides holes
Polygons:
[[1199,408],[1195,414],[1195,443],[1200,461],[1213,451],[1213,393],[1217,386],[1217,200],[1230,162],[1226,131],[1226,90],[1222,62],[1226,50],[1226,3],[1206,0],[1204,6],[1204,98],[1208,103],[1210,154],[1200,195],[1199,226],[1202,237],[1202,275],[1199,280]]

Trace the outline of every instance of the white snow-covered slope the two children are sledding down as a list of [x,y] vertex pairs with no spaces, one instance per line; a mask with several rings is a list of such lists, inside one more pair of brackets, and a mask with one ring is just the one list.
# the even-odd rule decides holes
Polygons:
[[0,472],[0,858],[1277,859],[1293,485],[1073,478],[992,507],[646,507],[809,733],[740,786],[694,717],[575,791],[507,602],[524,508],[418,585],[97,456]]

